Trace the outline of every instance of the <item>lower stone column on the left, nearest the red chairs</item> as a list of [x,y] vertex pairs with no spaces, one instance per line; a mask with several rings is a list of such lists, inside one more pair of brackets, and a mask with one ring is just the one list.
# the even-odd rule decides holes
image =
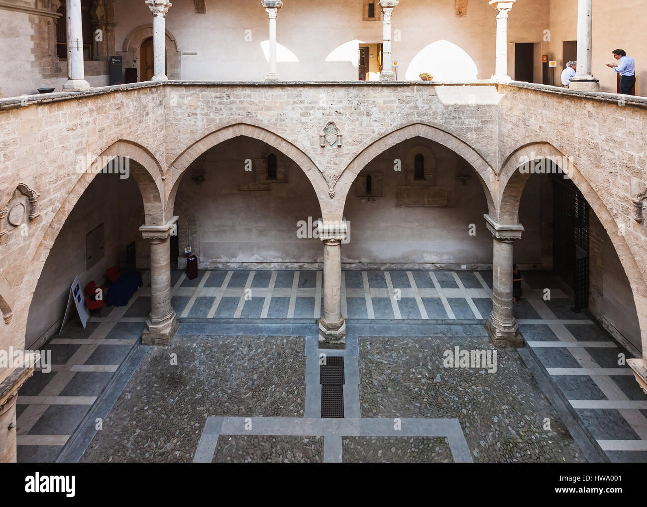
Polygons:
[[151,243],[151,314],[142,333],[144,345],[168,345],[179,323],[171,307],[171,234],[178,217],[164,225],[142,225],[142,238]]

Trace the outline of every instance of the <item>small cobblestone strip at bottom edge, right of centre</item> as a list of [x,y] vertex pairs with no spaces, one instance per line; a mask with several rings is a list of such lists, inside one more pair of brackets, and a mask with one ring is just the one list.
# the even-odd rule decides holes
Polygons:
[[345,436],[342,456],[349,463],[452,463],[446,438]]

